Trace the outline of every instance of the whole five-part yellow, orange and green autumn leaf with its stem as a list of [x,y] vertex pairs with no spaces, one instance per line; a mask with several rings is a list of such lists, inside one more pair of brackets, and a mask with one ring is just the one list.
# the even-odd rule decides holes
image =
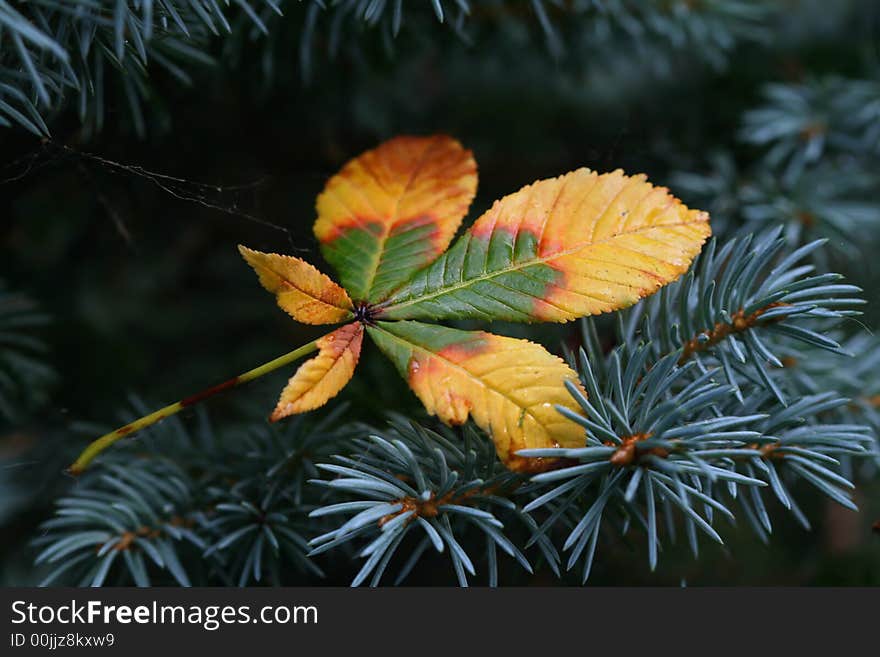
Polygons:
[[709,217],[643,175],[578,169],[496,201],[446,250],[476,186],[470,151],[450,137],[398,137],[351,160],[318,197],[314,226],[342,286],[299,258],[240,250],[297,321],[355,321],[102,436],[71,470],[124,435],[315,350],[271,419],[318,408],[351,379],[365,328],[428,413],[448,424],[473,419],[510,469],[551,465],[520,450],[582,445],[583,430],[558,410],[575,410],[565,384],[579,385],[558,357],[526,340],[412,320],[564,322],[625,308],[688,269]]

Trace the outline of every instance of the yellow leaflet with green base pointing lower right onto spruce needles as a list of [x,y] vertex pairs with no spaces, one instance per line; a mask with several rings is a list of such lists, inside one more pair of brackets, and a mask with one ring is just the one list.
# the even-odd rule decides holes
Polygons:
[[579,385],[577,375],[540,345],[421,322],[377,322],[367,331],[428,413],[447,424],[473,417],[511,470],[541,467],[518,450],[583,444],[581,428],[556,410],[577,408],[564,387]]

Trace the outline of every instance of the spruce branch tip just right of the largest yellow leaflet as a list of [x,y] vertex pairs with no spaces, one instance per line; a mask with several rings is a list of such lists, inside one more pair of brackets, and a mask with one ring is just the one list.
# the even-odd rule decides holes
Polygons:
[[805,264],[823,241],[780,256],[786,240],[780,229],[733,238],[720,247],[711,241],[682,279],[664,288],[628,318],[628,335],[639,322],[657,356],[681,350],[679,363],[694,360],[702,371],[720,367],[734,394],[742,398],[745,372],[785,396],[770,367],[783,367],[773,352],[779,340],[845,353],[827,331],[864,304],[857,286],[839,274],[815,274]]

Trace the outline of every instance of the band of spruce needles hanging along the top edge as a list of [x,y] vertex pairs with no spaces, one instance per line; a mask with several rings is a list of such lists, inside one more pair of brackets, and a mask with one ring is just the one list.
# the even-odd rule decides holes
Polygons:
[[[660,68],[668,68],[661,62],[670,50],[695,50],[720,67],[739,41],[765,36],[769,8],[741,0],[696,8],[629,0],[419,0],[405,7],[403,0],[0,0],[0,126],[49,135],[47,114],[70,103],[88,131],[98,132],[116,95],[144,135],[146,106],[155,102],[151,78],[192,84],[194,67],[215,63],[219,37],[228,40],[223,51],[231,61],[247,50],[264,51],[261,69],[269,78],[279,68],[273,60],[289,57],[291,31],[310,79],[319,44],[335,58],[343,47],[357,52],[363,32],[375,31],[391,52],[404,24],[413,30],[446,24],[468,44],[537,31],[557,57],[569,48],[582,57],[603,53],[622,41]],[[581,21],[590,26],[586,34],[569,27]]]

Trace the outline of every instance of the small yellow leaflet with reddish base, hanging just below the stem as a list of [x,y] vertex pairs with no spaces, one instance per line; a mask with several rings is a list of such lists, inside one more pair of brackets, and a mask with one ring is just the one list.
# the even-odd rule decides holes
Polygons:
[[281,392],[272,422],[319,408],[351,380],[361,354],[364,326],[347,324],[318,340],[318,355],[307,360]]

